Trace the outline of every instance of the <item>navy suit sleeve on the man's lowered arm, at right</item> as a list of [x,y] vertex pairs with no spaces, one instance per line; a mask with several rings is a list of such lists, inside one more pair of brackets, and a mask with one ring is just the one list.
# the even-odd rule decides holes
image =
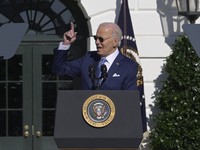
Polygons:
[[127,70],[123,83],[123,90],[137,90],[138,64],[133,63]]

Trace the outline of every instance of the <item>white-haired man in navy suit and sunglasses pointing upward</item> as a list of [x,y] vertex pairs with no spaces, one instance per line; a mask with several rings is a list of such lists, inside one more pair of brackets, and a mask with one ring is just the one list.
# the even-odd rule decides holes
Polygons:
[[[97,51],[87,52],[82,58],[71,62],[66,61],[68,49],[76,40],[74,25],[71,23],[71,30],[63,35],[63,42],[57,49],[54,49],[53,72],[59,75],[71,77],[81,77],[83,90],[95,90],[98,83],[99,63],[104,60],[107,68],[106,80],[101,84],[101,90],[137,90],[138,64],[124,56],[118,49],[122,31],[115,23],[102,23],[99,25],[96,36],[94,36]],[[96,70],[97,78],[89,75],[88,67],[91,71]],[[91,78],[93,78],[91,80]],[[95,85],[96,83],[96,85]]]

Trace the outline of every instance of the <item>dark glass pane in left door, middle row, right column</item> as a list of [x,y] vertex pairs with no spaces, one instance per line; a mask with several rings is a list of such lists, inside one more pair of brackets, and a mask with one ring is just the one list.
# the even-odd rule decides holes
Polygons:
[[22,108],[22,83],[8,84],[8,108]]

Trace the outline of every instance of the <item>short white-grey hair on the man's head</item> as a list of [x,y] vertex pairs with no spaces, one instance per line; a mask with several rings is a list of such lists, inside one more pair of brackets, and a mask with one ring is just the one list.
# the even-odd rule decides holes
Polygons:
[[113,22],[104,22],[99,25],[99,27],[101,26],[113,27],[113,30],[112,30],[113,37],[117,37],[119,39],[118,46],[120,46],[121,38],[122,38],[122,30],[120,29],[120,27]]

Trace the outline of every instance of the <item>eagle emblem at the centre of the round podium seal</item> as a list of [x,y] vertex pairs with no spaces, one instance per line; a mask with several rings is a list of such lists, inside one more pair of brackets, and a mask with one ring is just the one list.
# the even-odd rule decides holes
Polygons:
[[97,119],[102,119],[107,114],[107,112],[105,111],[105,105],[94,104],[92,108],[94,112],[94,117],[96,117]]

